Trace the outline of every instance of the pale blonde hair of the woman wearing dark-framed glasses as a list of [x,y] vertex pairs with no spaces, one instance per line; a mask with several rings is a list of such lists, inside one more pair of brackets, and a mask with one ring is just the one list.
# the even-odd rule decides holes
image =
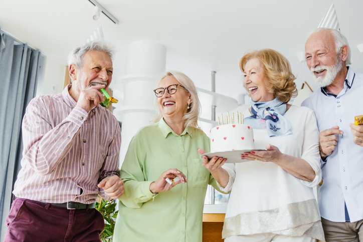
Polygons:
[[[182,86],[185,87],[185,90],[191,94],[192,103],[190,104],[190,109],[188,109],[187,113],[183,117],[183,124],[184,128],[187,126],[191,126],[194,129],[201,130],[198,126],[198,117],[201,111],[201,102],[198,98],[198,92],[196,86],[194,85],[193,81],[184,73],[177,72],[177,71],[167,71],[161,77],[156,80],[155,89],[158,87],[159,83],[162,79],[167,76],[174,77]],[[162,113],[159,104],[157,103],[157,97],[155,96],[154,99],[154,106],[156,110],[156,117],[152,120],[154,123],[158,122],[162,118]]]

